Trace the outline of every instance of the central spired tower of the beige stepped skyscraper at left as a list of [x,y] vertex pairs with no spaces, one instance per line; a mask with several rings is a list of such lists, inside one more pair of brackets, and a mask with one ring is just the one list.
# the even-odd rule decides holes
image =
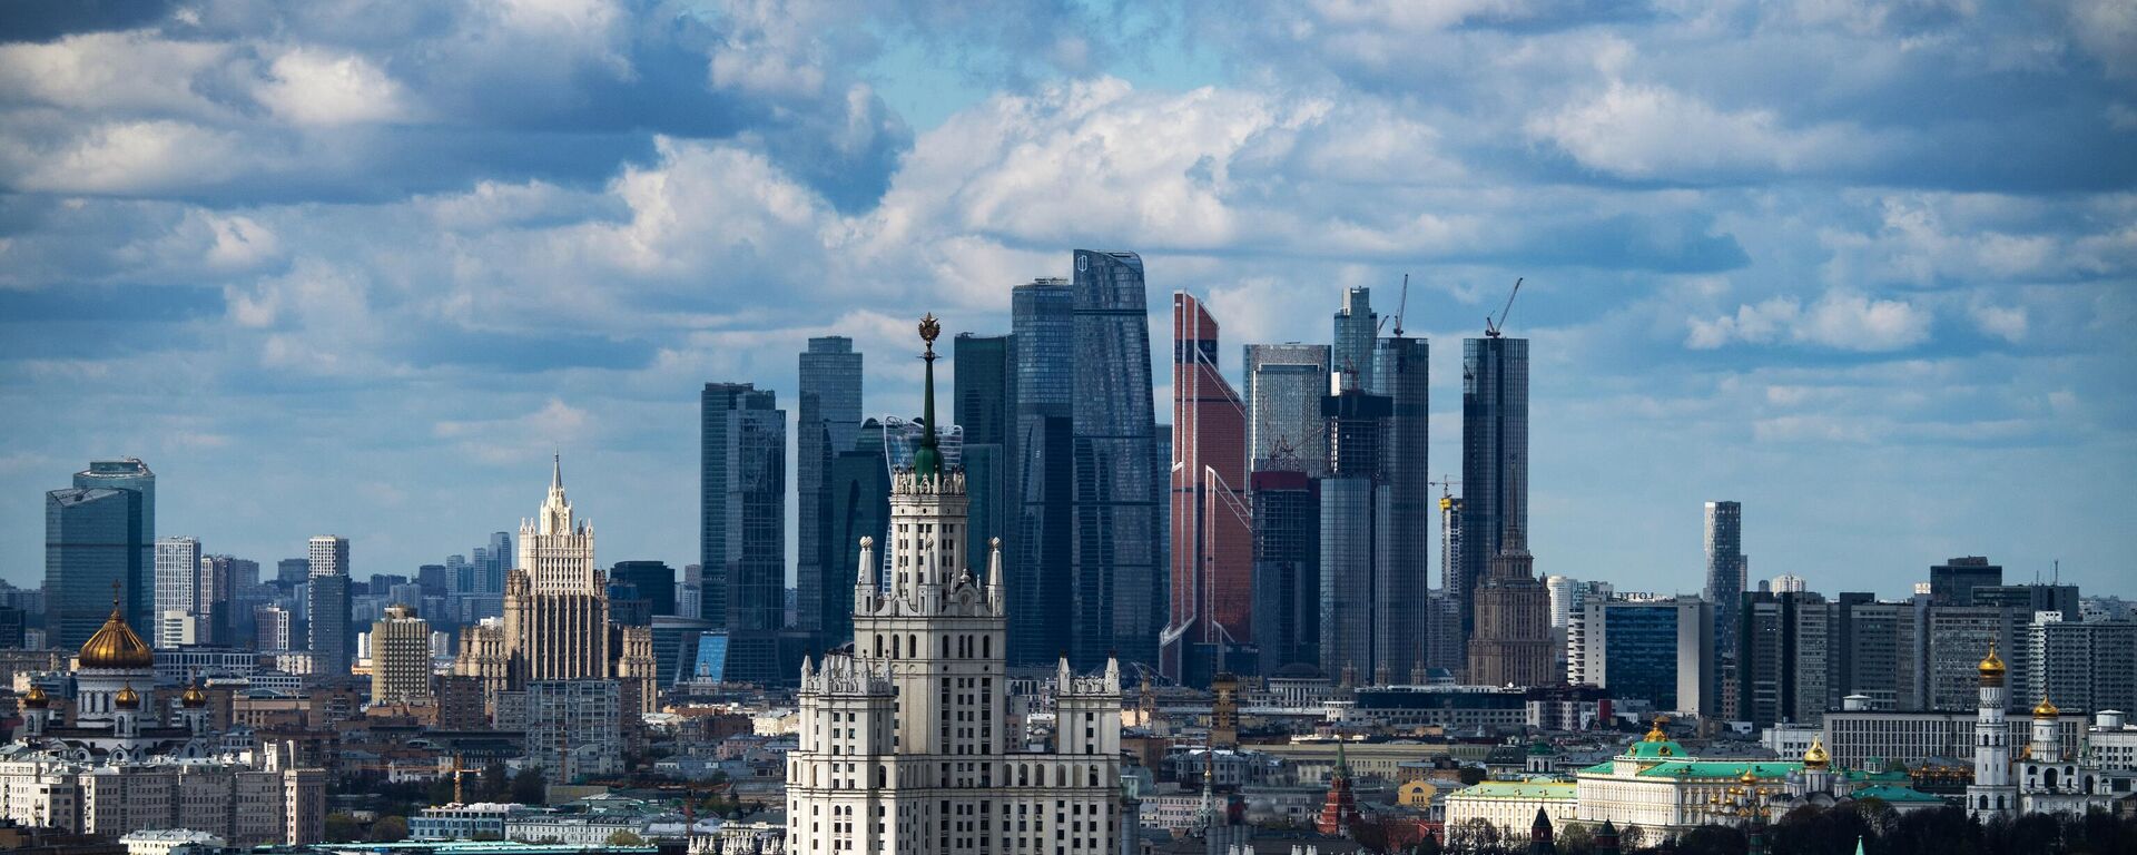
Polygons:
[[541,511],[519,522],[519,566],[504,575],[511,684],[611,675],[607,586],[594,566],[594,526],[573,517],[558,457]]

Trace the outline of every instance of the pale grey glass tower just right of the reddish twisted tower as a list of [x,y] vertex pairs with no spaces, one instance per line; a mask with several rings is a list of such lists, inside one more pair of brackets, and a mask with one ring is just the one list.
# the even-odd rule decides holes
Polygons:
[[1250,466],[1291,455],[1306,475],[1325,475],[1329,445],[1321,398],[1329,393],[1329,346],[1248,344],[1244,372]]

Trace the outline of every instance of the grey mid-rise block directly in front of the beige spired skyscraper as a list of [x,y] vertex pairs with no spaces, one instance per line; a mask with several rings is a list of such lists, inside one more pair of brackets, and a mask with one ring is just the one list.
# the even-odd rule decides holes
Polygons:
[[624,772],[622,686],[615,680],[536,680],[526,686],[528,759],[568,784]]

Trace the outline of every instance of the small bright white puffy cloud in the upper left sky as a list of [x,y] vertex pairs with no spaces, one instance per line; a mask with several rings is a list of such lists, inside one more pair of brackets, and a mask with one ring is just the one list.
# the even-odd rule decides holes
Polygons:
[[408,94],[359,53],[295,47],[274,60],[254,92],[261,105],[299,126],[402,122]]

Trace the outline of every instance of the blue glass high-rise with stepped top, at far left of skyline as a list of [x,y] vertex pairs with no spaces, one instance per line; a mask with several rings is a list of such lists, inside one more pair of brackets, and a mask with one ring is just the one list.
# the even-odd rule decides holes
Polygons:
[[139,539],[139,492],[73,487],[45,494],[45,643],[49,648],[81,648],[111,616],[113,596],[152,590],[147,571],[141,566]]

